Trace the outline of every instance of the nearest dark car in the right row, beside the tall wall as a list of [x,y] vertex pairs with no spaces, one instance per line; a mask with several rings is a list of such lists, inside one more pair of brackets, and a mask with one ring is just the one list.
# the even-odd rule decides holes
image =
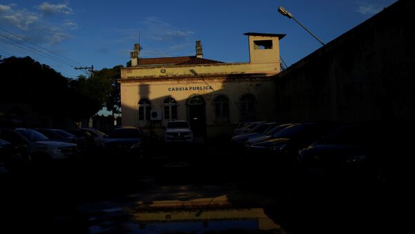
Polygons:
[[388,143],[382,144],[386,133],[383,130],[385,126],[369,124],[342,126],[299,150],[299,160],[315,176],[385,179],[381,151],[387,150]]

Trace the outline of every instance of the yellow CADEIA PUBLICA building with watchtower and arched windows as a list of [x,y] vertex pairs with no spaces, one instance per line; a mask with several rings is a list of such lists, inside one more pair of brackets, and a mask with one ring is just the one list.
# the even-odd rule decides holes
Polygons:
[[131,52],[131,66],[121,70],[122,125],[154,128],[158,135],[168,121],[188,120],[195,134],[230,135],[239,121],[275,119],[275,83],[280,71],[279,40],[285,35],[245,33],[250,61],[223,63],[196,55],[140,58]]

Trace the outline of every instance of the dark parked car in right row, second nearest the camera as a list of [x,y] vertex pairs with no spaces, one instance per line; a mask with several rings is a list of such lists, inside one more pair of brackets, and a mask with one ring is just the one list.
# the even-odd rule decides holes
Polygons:
[[275,134],[275,138],[249,145],[247,148],[250,153],[270,155],[284,163],[293,164],[297,162],[299,149],[321,139],[336,126],[331,123],[293,124]]

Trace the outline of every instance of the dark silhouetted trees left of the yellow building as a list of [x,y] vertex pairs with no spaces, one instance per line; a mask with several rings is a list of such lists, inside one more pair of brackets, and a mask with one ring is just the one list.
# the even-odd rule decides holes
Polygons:
[[120,68],[69,79],[30,57],[0,60],[0,104],[25,104],[42,116],[89,119],[106,106],[120,112]]

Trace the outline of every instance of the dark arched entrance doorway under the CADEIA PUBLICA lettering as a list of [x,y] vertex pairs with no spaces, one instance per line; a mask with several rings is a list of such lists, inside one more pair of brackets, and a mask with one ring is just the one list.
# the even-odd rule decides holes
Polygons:
[[190,96],[187,99],[187,113],[194,135],[204,136],[206,133],[205,99],[201,95]]

